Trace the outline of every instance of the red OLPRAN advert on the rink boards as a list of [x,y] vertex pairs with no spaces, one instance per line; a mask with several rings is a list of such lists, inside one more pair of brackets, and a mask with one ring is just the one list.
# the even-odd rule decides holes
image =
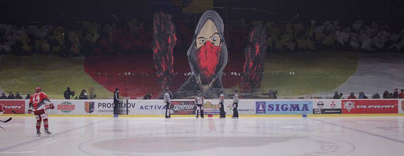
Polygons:
[[342,100],[343,114],[398,113],[398,100]]

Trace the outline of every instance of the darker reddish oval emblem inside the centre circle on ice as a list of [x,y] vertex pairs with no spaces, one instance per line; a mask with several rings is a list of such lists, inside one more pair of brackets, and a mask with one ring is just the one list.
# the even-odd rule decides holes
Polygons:
[[[303,138],[303,137],[300,137]],[[94,148],[125,152],[182,152],[206,150],[219,147],[263,146],[275,142],[290,141],[290,137],[128,137],[98,141]],[[115,146],[127,142],[125,146]],[[153,148],[149,148],[153,145]],[[180,148],[179,148],[180,147]],[[159,150],[156,150],[158,148]]]

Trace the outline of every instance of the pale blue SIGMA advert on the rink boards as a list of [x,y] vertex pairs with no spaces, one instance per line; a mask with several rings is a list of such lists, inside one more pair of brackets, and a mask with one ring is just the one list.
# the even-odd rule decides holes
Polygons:
[[256,101],[256,114],[312,114],[311,100]]

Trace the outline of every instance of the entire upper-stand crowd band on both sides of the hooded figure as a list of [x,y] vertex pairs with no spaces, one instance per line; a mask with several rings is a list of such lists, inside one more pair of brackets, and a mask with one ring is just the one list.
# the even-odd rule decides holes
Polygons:
[[[353,24],[352,24],[353,23]],[[0,24],[0,55],[56,54],[70,56],[116,56],[151,52],[153,24],[136,19],[125,24],[81,22],[73,28],[63,26],[16,26]],[[383,22],[307,21],[306,23],[252,22],[228,24],[226,41],[230,50],[243,52],[249,27],[263,24],[267,28],[267,45],[271,52],[313,50],[404,51],[404,30],[401,25]],[[193,36],[193,25],[176,23],[176,47],[186,49]],[[181,30],[181,31],[178,31]],[[228,31],[228,32],[227,32]]]

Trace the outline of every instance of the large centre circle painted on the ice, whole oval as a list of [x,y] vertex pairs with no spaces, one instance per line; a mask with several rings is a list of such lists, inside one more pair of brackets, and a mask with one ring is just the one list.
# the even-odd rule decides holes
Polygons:
[[354,150],[355,146],[338,139],[301,134],[196,134],[189,131],[98,138],[80,144],[79,148],[91,155],[192,155],[195,152],[218,155],[342,155]]

